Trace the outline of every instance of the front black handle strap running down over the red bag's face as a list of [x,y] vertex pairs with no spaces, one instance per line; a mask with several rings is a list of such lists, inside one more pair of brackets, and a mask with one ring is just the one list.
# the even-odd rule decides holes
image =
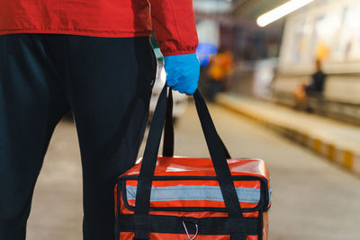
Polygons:
[[[164,86],[157,101],[157,107],[150,124],[148,140],[139,172],[134,213],[134,239],[148,239],[149,224],[147,217],[150,208],[152,179],[157,164],[157,152],[166,119],[166,89],[167,87]],[[243,218],[243,215],[224,148],[221,147],[220,138],[211,120],[206,103],[202,99],[201,93],[196,90],[193,98],[202,124],[202,132],[211,155],[212,164],[219,181],[220,191],[229,213],[229,218],[233,218],[236,221]]]

